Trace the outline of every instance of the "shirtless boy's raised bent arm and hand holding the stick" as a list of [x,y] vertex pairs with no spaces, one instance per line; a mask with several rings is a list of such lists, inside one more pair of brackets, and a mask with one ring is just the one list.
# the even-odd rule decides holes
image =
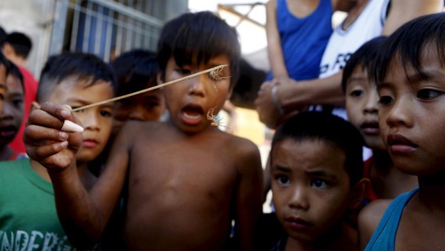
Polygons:
[[76,149],[81,145],[82,134],[59,131],[65,119],[79,124],[63,106],[43,104],[29,116],[24,143],[30,158],[47,168],[65,234],[72,245],[85,249],[97,243],[104,232],[124,184],[128,156],[124,143],[113,147],[113,165],[105,168],[88,193],[76,169]]

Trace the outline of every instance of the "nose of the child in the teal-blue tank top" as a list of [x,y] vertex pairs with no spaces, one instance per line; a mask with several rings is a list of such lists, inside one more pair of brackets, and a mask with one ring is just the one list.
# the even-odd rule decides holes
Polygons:
[[389,127],[412,126],[411,111],[414,106],[411,105],[409,97],[402,97],[394,100],[394,105],[389,108],[385,121]]

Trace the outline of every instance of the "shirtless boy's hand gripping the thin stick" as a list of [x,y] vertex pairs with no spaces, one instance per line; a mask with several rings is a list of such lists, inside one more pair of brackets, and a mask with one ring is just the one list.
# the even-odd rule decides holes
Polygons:
[[65,120],[80,124],[67,106],[45,102],[30,113],[26,122],[23,136],[26,153],[49,171],[63,170],[74,163],[82,143],[82,133],[60,130]]

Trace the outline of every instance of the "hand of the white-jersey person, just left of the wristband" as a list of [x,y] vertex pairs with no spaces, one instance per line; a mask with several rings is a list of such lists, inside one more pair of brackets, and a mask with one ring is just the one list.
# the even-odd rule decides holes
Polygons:
[[257,99],[254,101],[259,121],[266,124],[270,129],[275,129],[282,117],[272,97],[272,88],[277,86],[277,84],[275,79],[264,82],[259,89]]

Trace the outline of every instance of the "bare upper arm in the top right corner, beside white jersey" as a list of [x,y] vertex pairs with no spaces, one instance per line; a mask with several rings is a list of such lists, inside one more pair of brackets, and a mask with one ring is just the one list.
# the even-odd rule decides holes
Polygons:
[[442,12],[443,0],[391,0],[382,35],[391,35],[398,27],[421,15]]

